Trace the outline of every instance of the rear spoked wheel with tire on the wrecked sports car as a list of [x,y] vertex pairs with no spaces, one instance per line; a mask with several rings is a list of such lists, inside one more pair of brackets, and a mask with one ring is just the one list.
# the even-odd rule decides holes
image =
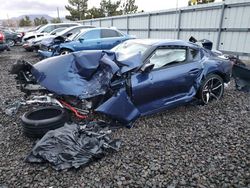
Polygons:
[[213,100],[220,100],[224,93],[224,81],[217,74],[208,75],[201,83],[198,98],[202,104],[208,104]]

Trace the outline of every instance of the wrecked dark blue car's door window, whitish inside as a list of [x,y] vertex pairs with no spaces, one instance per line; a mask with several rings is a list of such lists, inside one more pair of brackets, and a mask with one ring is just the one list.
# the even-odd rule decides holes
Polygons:
[[149,60],[151,64],[154,64],[154,69],[174,63],[181,63],[186,60],[186,49],[159,48],[155,50]]

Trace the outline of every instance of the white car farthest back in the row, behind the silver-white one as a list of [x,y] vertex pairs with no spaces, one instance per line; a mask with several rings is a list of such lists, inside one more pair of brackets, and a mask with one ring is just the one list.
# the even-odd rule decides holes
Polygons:
[[72,26],[77,26],[77,25],[81,25],[79,23],[57,23],[57,24],[46,24],[42,27],[40,27],[38,30],[32,31],[32,32],[27,32],[25,33],[25,36],[23,37],[23,42],[30,40],[30,39],[34,39],[37,37],[41,37],[44,35],[49,34],[51,31],[60,28],[60,27],[72,27]]

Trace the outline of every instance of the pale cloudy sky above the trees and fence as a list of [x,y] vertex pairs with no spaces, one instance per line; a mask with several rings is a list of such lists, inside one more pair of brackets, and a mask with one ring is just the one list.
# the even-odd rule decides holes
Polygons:
[[[98,7],[100,1],[88,0],[88,7]],[[26,14],[48,14],[57,17],[57,8],[59,8],[60,17],[65,17],[69,15],[64,7],[67,4],[68,0],[0,0],[0,19]],[[177,4],[178,7],[184,7],[187,6],[188,0],[135,0],[135,4],[139,11],[148,12],[176,8]]]

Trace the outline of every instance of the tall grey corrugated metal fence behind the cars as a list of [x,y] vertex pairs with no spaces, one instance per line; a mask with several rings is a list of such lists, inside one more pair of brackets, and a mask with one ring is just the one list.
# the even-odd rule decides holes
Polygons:
[[114,26],[138,38],[206,38],[214,42],[215,49],[250,57],[250,0],[226,0],[82,22],[97,27]]

